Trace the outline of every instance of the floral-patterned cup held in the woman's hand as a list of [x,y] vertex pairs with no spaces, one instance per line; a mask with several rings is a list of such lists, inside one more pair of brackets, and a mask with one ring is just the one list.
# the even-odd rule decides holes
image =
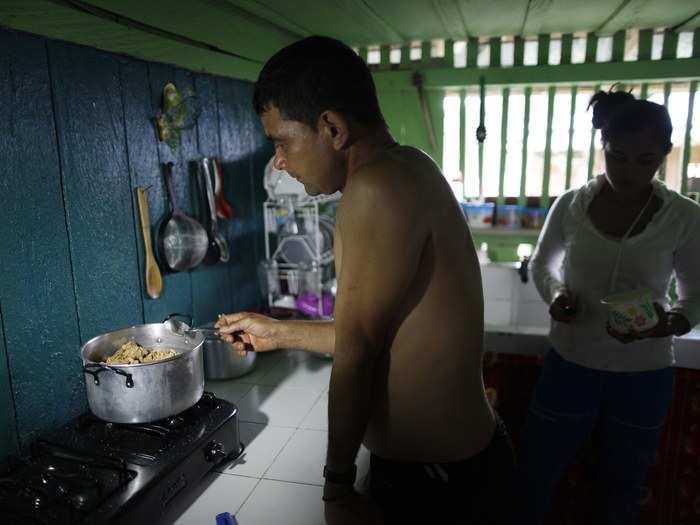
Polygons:
[[643,332],[659,322],[649,290],[631,290],[604,297],[600,301],[608,307],[608,321],[621,334]]

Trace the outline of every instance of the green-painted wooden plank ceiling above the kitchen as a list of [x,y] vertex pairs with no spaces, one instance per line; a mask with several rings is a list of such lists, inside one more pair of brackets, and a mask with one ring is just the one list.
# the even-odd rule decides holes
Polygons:
[[254,78],[312,34],[355,46],[434,38],[700,27],[698,0],[3,0],[0,25]]

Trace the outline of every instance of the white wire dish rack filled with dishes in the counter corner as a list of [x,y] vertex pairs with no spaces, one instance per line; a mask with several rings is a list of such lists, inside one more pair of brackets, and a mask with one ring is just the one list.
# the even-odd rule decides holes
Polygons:
[[335,296],[333,235],[339,194],[280,195],[263,203],[265,261],[260,279],[269,307],[298,308],[301,296],[316,297],[316,315],[330,318]]

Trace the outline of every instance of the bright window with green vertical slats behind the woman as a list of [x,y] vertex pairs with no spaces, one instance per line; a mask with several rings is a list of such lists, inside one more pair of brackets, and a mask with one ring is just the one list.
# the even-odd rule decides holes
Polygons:
[[[609,89],[609,86],[605,85],[602,88]],[[640,85],[626,84],[621,85],[620,88],[631,89],[636,96],[641,96]],[[665,177],[666,184],[678,191],[682,185],[690,83],[651,84],[646,86],[646,89],[648,99],[659,104],[664,103],[665,92],[668,93],[668,109],[673,124],[673,149],[666,160]],[[556,87],[550,141],[549,186],[547,187],[548,194],[551,196],[561,195],[569,188],[586,184],[589,172],[592,176],[596,176],[605,171],[600,131],[592,129],[592,113],[587,109],[593,90],[593,86],[590,85],[577,86],[572,98],[572,86]],[[501,171],[503,171],[504,197],[542,195],[549,109],[548,92],[548,86],[530,89],[530,118],[525,122],[526,90],[520,86],[509,88],[505,142],[503,142],[501,126],[505,107],[504,89],[503,86],[487,87],[484,101],[486,140],[483,144],[481,173],[479,143],[476,140],[481,106],[479,88],[476,86],[468,88],[463,104],[460,104],[461,95],[449,94],[445,97],[443,167],[445,176],[458,197],[498,197]],[[688,177],[697,178],[700,178],[699,98],[696,92],[690,134],[691,148],[688,152]],[[460,111],[465,112],[464,129],[460,129]],[[528,139],[523,147],[526,128]],[[460,134],[464,136],[462,166],[460,166]],[[505,148],[505,167],[501,170],[503,148]],[[524,167],[523,151],[526,153]],[[570,175],[567,184],[569,162]],[[521,195],[523,171],[526,177],[525,193]]]

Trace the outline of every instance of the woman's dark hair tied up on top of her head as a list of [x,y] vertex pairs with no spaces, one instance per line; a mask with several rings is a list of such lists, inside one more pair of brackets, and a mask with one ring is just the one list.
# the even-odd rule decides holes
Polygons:
[[627,91],[598,91],[588,104],[593,106],[593,127],[601,130],[603,141],[621,134],[649,128],[663,143],[671,145],[671,117],[668,110],[648,100],[638,100]]

